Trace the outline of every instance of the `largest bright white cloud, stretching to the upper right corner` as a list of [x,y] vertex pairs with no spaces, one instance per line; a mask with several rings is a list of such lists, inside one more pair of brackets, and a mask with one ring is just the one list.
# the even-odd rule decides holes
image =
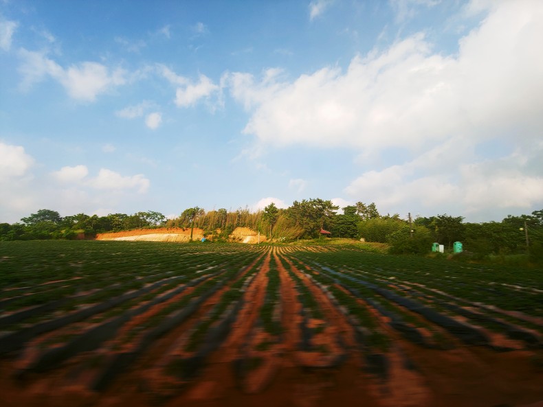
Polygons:
[[[543,3],[502,2],[457,55],[432,54],[416,34],[293,82],[230,75],[259,143],[426,149],[452,135],[534,139],[543,131]],[[511,137],[511,136],[509,136]]]

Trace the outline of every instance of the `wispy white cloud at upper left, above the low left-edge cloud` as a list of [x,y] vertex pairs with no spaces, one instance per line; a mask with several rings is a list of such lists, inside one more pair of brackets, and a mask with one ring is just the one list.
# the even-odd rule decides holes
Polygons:
[[80,62],[63,68],[44,52],[19,50],[23,61],[19,72],[23,75],[24,90],[50,76],[59,82],[68,95],[82,102],[93,102],[102,93],[126,83],[126,71],[109,69],[98,62]]

